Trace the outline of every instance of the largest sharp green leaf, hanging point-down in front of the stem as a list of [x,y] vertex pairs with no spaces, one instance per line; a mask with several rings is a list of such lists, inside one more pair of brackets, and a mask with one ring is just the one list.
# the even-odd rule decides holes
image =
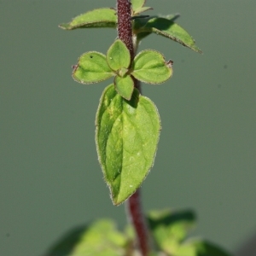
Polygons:
[[96,148],[114,205],[131,196],[154,164],[160,116],[154,103],[133,90],[126,101],[110,84],[96,113]]

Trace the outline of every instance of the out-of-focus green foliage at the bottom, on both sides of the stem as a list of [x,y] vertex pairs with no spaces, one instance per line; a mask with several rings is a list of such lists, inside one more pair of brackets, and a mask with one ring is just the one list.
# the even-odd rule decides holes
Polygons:
[[[230,256],[209,241],[187,238],[195,228],[195,213],[190,210],[149,212],[147,220],[156,245],[150,256]],[[120,232],[112,220],[102,219],[71,230],[45,256],[136,256],[135,239],[130,225]]]

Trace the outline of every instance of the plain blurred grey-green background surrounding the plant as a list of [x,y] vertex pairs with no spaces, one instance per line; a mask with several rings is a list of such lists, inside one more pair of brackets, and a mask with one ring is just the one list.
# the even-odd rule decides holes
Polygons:
[[[174,61],[171,80],[143,86],[163,127],[143,207],[193,208],[195,234],[241,251],[256,230],[256,2],[147,5],[154,7],[149,15],[180,13],[177,23],[204,54],[156,35],[141,44]],[[108,6],[115,1],[0,0],[1,256],[42,255],[74,225],[95,218],[125,225],[125,207],[110,201],[94,142],[96,108],[111,81],[83,85],[71,77],[79,55],[105,53],[116,31],[57,26]]]

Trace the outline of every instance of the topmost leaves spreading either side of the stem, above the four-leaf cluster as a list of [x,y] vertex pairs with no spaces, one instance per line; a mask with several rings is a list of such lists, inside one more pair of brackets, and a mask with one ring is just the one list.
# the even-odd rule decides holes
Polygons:
[[[186,32],[181,26],[177,25],[173,21],[175,15],[168,15],[166,17],[160,17],[157,15],[140,17],[140,13],[152,9],[150,7],[144,7],[145,1],[133,0],[132,3],[132,16],[136,19],[133,20],[133,33],[137,37],[137,41],[142,40],[151,33],[163,36],[165,38],[172,39],[173,41],[189,47],[196,52],[201,53],[195,45],[195,40]],[[69,23],[62,23],[61,28],[66,30],[73,30],[76,28],[88,28],[88,27],[117,27],[117,15],[115,9],[94,9],[83,15],[75,17]]]

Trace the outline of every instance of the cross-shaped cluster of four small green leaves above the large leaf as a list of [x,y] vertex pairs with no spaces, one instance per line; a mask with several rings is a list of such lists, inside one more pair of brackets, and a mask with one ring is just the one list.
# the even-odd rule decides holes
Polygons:
[[129,49],[119,39],[110,46],[107,55],[96,51],[81,55],[73,70],[73,79],[82,84],[114,77],[115,90],[128,101],[131,100],[134,79],[147,84],[161,84],[171,76],[172,61],[165,61],[160,52],[143,50],[131,62]]

